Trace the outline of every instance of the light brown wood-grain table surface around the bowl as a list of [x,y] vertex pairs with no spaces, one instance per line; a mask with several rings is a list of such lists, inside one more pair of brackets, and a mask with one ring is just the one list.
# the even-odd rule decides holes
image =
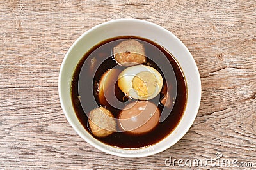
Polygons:
[[[178,143],[150,157],[93,148],[68,124],[58,98],[70,45],[116,18],[173,32],[200,71],[194,124]],[[230,169],[185,164],[216,159],[216,153],[222,155],[217,160],[256,169],[256,1],[1,0],[0,25],[0,169]],[[184,161],[168,166],[170,157]]]

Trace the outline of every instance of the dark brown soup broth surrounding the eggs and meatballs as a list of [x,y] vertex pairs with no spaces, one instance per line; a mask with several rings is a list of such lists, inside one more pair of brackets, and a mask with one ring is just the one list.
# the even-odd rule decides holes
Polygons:
[[[83,127],[90,132],[87,115],[91,110],[102,105],[111,111],[115,118],[118,118],[121,110],[108,104],[100,103],[97,88],[100,77],[104,72],[113,67],[120,70],[126,68],[125,66],[118,66],[115,59],[113,59],[112,49],[121,41],[131,38],[136,39],[144,45],[145,55],[147,56],[145,65],[154,67],[163,76],[164,84],[159,98],[162,99],[166,94],[166,89],[168,89],[173,104],[171,107],[167,108],[160,102],[156,103],[159,110],[161,110],[161,114],[168,114],[163,122],[159,122],[152,131],[147,132],[146,134],[114,132],[110,136],[104,138],[94,137],[103,143],[120,148],[145,147],[164,139],[179,124],[184,113],[184,108],[186,107],[187,99],[186,81],[182,70],[176,60],[173,59],[172,55],[162,46],[157,45],[157,43],[149,41],[148,39],[134,36],[111,38],[102,41],[87,52],[79,61],[76,70],[74,71],[71,84],[72,104],[77,118],[79,118]],[[126,106],[132,102],[132,100],[123,100],[124,95],[125,94],[122,93],[116,83],[115,96],[119,101],[124,103],[124,106]],[[165,110],[165,113],[163,113],[163,110]]]

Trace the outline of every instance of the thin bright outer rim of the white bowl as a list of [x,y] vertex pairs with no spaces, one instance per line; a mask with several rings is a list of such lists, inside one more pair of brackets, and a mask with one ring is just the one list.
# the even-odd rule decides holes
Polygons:
[[[65,69],[65,63],[67,62],[67,59],[68,59],[68,56],[70,55],[70,52],[72,50],[74,50],[74,47],[87,34],[90,34],[91,32],[99,29],[102,26],[104,27],[106,25],[116,24],[116,23],[119,23],[119,22],[141,22],[142,24],[149,24],[149,25],[152,25],[152,26],[156,27],[157,29],[160,29],[161,31],[168,32],[168,34],[170,34],[170,36],[172,36],[172,38],[174,38],[175,41],[177,41],[179,43],[179,45],[182,46],[182,48],[184,50],[186,50],[186,53],[189,55],[189,58],[191,59],[190,61],[193,65],[191,67],[193,67],[193,69],[195,71],[196,81],[198,83],[198,88],[197,88],[197,90],[198,90],[198,100],[196,100],[196,103],[193,104],[195,106],[195,111],[196,112],[193,114],[193,117],[191,117],[191,120],[189,121],[189,124],[184,127],[184,130],[182,131],[182,134],[179,134],[179,138],[176,138],[174,141],[172,141],[172,145],[164,145],[163,147],[161,147],[160,149],[157,149],[157,150],[154,150],[154,148],[151,148],[151,149],[148,150],[148,152],[143,152],[143,153],[138,152],[138,153],[136,153],[136,150],[144,150],[144,149],[147,150],[147,148],[150,148],[151,146],[154,146],[154,145],[157,145],[158,143],[161,143],[161,141],[163,141],[163,139],[162,139],[161,141],[159,141],[158,143],[156,143],[154,145],[146,146],[145,148],[142,147],[142,148],[134,149],[135,152],[133,154],[125,153],[125,150],[129,150],[129,151],[133,150],[133,149],[126,149],[126,148],[118,148],[118,150],[120,150],[120,152],[116,152],[115,151],[115,149],[116,149],[115,146],[109,146],[108,145],[110,148],[115,148],[115,149],[111,150],[111,149],[107,149],[105,146],[102,146],[102,142],[98,141],[97,139],[96,139],[97,141],[92,141],[92,139],[90,139],[90,138],[92,138],[91,137],[92,135],[90,133],[88,133],[88,134],[90,134],[90,137],[84,136],[84,134],[81,131],[79,131],[79,129],[77,129],[76,124],[74,124],[74,122],[72,121],[72,118],[70,118],[70,115],[67,113],[67,108],[65,106],[65,102],[63,101],[63,94],[61,92],[62,90],[64,90],[62,88],[62,85],[61,85],[61,80],[62,80],[63,72],[64,72],[64,69]],[[83,56],[81,56],[81,57],[83,57]],[[175,58],[175,56],[173,56],[173,57]],[[176,58],[175,58],[175,60],[179,63],[179,61]],[[182,69],[182,67],[181,67],[181,69]],[[157,25],[157,24],[154,24],[152,22],[145,21],[145,20],[132,19],[132,18],[122,18],[122,19],[116,19],[116,20],[110,20],[110,21],[107,21],[107,22],[103,22],[101,24],[95,25],[94,27],[88,29],[88,31],[84,32],[81,36],[79,36],[79,38],[76,39],[76,41],[70,46],[67,53],[65,54],[65,57],[64,57],[63,62],[61,64],[61,67],[60,67],[60,73],[59,73],[59,78],[58,78],[58,94],[59,94],[59,98],[60,98],[61,108],[63,109],[65,117],[67,118],[67,120],[68,120],[69,124],[72,126],[72,128],[77,132],[77,134],[79,134],[79,136],[81,136],[81,138],[83,138],[90,145],[92,145],[95,148],[101,150],[102,152],[110,153],[112,155],[116,155],[116,156],[120,156],[120,157],[145,157],[145,156],[150,156],[150,155],[154,155],[154,154],[159,153],[159,152],[163,152],[167,148],[170,148],[171,146],[175,145],[175,143],[177,143],[181,138],[183,138],[183,136],[189,131],[191,125],[193,124],[193,122],[196,118],[196,115],[197,115],[199,107],[200,107],[200,101],[201,101],[201,95],[202,95],[202,89],[201,88],[202,87],[201,87],[200,74],[199,74],[199,71],[198,71],[198,67],[196,66],[195,59],[193,59],[193,56],[189,52],[188,48],[184,45],[184,43],[182,43],[182,41],[180,41],[180,39],[177,38],[172,32],[168,31],[167,29],[164,29],[160,25]],[[188,91],[188,87],[187,87],[187,91]],[[187,97],[187,101],[188,101],[188,97]],[[187,108],[187,106],[186,106],[186,108]],[[186,108],[185,108],[185,110],[186,110]],[[179,124],[180,124],[180,122],[179,122]],[[86,131],[86,130],[84,129],[84,131]],[[170,134],[172,134],[172,132]],[[170,136],[170,134],[168,136]],[[167,138],[167,136],[165,138]],[[103,145],[106,145],[106,144],[103,143]],[[122,150],[124,152],[122,152]]]

